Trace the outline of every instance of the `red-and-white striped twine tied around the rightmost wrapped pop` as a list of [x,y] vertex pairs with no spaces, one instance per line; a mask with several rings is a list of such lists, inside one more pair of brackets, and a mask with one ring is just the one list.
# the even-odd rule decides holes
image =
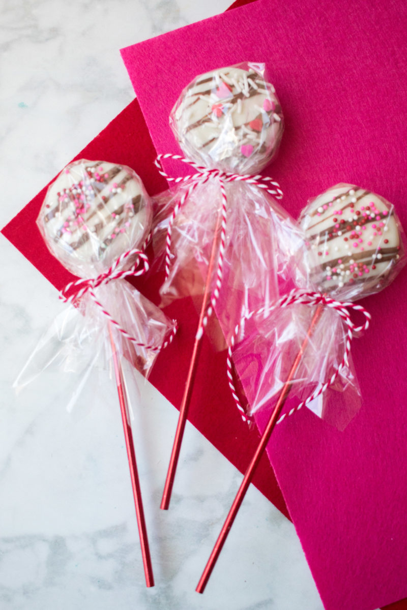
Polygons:
[[[242,407],[242,404],[240,403],[239,397],[237,395],[236,387],[234,386],[234,382],[233,382],[232,361],[231,361],[232,350],[236,343],[236,338],[239,335],[240,328],[245,320],[250,320],[250,318],[252,318],[254,315],[261,315],[261,314],[267,315],[267,314],[270,314],[277,307],[288,307],[288,306],[292,305],[293,303],[311,305],[311,306],[323,304],[323,306],[325,306],[325,307],[331,307],[331,309],[336,310],[337,313],[342,318],[342,320],[344,320],[345,324],[347,325],[347,338],[345,341],[345,351],[344,351],[344,356],[342,357],[342,361],[340,362],[339,366],[334,370],[333,375],[331,375],[330,379],[328,379],[324,384],[319,384],[319,386],[316,387],[314,392],[312,392],[312,394],[308,398],[306,398],[306,400],[303,400],[296,407],[294,407],[287,413],[284,413],[284,415],[282,415],[279,418],[277,423],[282,422],[284,420],[284,418],[287,417],[287,415],[292,415],[295,412],[297,412],[299,409],[301,409],[301,407],[306,406],[307,404],[311,403],[311,401],[314,400],[314,398],[317,398],[318,396],[320,396],[323,392],[325,392],[325,390],[329,386],[331,386],[331,384],[334,383],[334,381],[336,380],[336,378],[339,375],[342,368],[344,368],[345,365],[348,364],[348,356],[350,353],[351,340],[353,339],[353,337],[355,336],[356,333],[358,333],[359,331],[366,331],[367,328],[369,328],[371,315],[361,305],[355,305],[354,303],[349,303],[349,302],[342,303],[341,301],[335,301],[334,299],[330,298],[329,296],[322,295],[319,292],[303,292],[303,291],[300,291],[297,289],[294,289],[291,292],[289,292],[287,295],[282,296],[281,299],[276,301],[276,303],[274,303],[272,306],[261,307],[260,309],[249,312],[248,314],[243,316],[242,320],[240,320],[240,322],[237,323],[237,325],[235,326],[234,333],[231,338],[231,343],[230,343],[230,346],[228,349],[228,357],[227,357],[226,363],[227,363],[227,375],[228,375],[229,387],[231,389],[232,396],[234,398],[236,406],[239,409],[240,413],[242,414],[242,420],[245,422],[250,422],[251,418],[246,414],[245,410]],[[365,317],[364,324],[362,324],[361,326],[356,326],[353,323],[353,321],[351,320],[350,312],[348,310],[361,312]]]

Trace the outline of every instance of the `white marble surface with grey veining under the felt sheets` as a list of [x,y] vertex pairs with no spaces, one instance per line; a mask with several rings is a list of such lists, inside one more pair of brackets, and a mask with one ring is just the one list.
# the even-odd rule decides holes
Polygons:
[[[229,0],[2,0],[0,225],[133,98],[119,49]],[[64,385],[12,382],[62,311],[0,237],[2,610],[322,610],[294,527],[253,487],[204,595],[195,585],[240,475],[188,425],[176,490],[159,510],[177,412],[149,384],[135,409],[156,586],[146,589],[115,387],[69,414]],[[93,397],[95,398],[95,397]]]

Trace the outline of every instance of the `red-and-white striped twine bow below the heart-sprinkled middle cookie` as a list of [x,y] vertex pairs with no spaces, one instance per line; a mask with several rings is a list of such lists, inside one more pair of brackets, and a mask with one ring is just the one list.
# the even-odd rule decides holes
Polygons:
[[[179,178],[172,178],[168,176],[168,174],[162,168],[162,159],[174,159],[182,161],[183,163],[188,163],[191,167],[196,170],[195,174],[189,174],[188,176],[181,176]],[[205,184],[211,178],[217,178],[220,184],[220,191],[222,193],[222,210],[221,210],[221,231],[220,231],[220,245],[219,245],[219,253],[218,253],[218,261],[217,261],[217,271],[216,271],[216,282],[215,288],[211,294],[211,299],[209,300],[209,305],[204,314],[202,324],[200,328],[198,328],[198,332],[196,333],[196,339],[200,339],[203,334],[204,328],[207,325],[207,321],[212,315],[212,312],[215,308],[216,301],[218,299],[220,293],[220,287],[222,286],[222,276],[223,276],[223,261],[225,259],[225,248],[226,248],[226,215],[228,212],[228,199],[226,198],[226,189],[225,182],[247,182],[247,184],[254,184],[258,188],[264,188],[267,193],[273,195],[276,199],[281,199],[283,197],[283,191],[281,190],[278,182],[273,181],[272,178],[268,178],[267,176],[261,176],[261,174],[256,174],[256,176],[252,176],[251,174],[232,174],[222,170],[217,169],[209,169],[207,167],[203,167],[202,165],[198,165],[185,157],[182,157],[178,154],[171,154],[168,152],[167,154],[159,154],[157,159],[154,162],[156,167],[158,168],[161,176],[164,176],[165,179],[169,182],[174,182],[175,184],[179,184],[180,182],[190,182],[187,190],[182,193],[181,199],[176,203],[176,206],[171,214],[170,221],[168,223],[167,229],[167,239],[166,239],[166,253],[165,253],[165,281],[167,281],[168,276],[170,275],[170,263],[171,263],[171,236],[173,231],[173,224],[175,222],[176,217],[178,216],[179,211],[185,204],[185,201],[189,198],[189,196],[193,193],[195,188],[200,184]],[[274,187],[274,188],[271,188]],[[216,236],[214,236],[215,239]]]

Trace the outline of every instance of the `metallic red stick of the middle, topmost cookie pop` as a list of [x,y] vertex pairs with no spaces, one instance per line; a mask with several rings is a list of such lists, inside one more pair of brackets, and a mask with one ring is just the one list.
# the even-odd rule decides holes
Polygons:
[[[207,267],[207,277],[206,277],[206,282],[205,282],[205,289],[204,289],[204,296],[203,296],[201,313],[200,313],[200,320],[198,322],[198,329],[202,328],[203,319],[206,314],[207,304],[208,304],[209,298],[211,298],[211,292],[210,292],[211,279],[212,279],[212,271],[214,270],[215,255],[216,255],[216,251],[217,251],[217,241],[218,241],[216,238],[217,238],[217,234],[218,234],[218,229],[220,227],[221,218],[222,218],[222,213],[220,210],[218,212],[217,223],[215,226],[214,242],[212,243],[211,257],[209,258],[209,264]],[[175,471],[176,471],[176,467],[178,464],[178,458],[179,458],[179,451],[181,451],[181,443],[182,443],[182,437],[184,436],[185,424],[187,423],[188,409],[189,409],[189,404],[190,404],[191,395],[192,395],[193,382],[195,381],[196,369],[197,369],[197,365],[198,365],[198,357],[199,357],[199,354],[201,351],[202,337],[203,337],[203,334],[201,334],[200,337],[196,337],[195,343],[193,344],[193,350],[192,350],[192,356],[191,356],[191,361],[190,361],[190,365],[189,365],[189,371],[188,371],[188,375],[187,375],[187,381],[185,382],[184,395],[182,397],[181,407],[179,407],[178,425],[177,425],[177,428],[175,431],[173,450],[171,452],[170,464],[168,465],[168,472],[167,472],[167,478],[165,479],[164,492],[162,493],[160,508],[163,511],[167,511],[168,506],[170,506],[171,491],[173,489]]]

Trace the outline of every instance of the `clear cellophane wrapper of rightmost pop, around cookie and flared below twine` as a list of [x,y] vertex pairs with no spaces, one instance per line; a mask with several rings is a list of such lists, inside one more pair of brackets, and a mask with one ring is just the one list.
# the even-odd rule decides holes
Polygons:
[[[356,301],[386,287],[405,265],[405,234],[394,206],[374,193],[336,185],[311,199],[300,220],[306,231],[310,290],[341,302]],[[290,385],[290,407],[317,392],[340,367],[348,326],[325,307],[307,339],[314,313],[315,306],[292,304],[245,322],[244,339],[232,361],[247,398],[247,415],[272,412],[304,341]],[[356,323],[358,319],[356,314]],[[351,357],[334,383],[307,406],[338,429],[345,428],[361,406]]]

